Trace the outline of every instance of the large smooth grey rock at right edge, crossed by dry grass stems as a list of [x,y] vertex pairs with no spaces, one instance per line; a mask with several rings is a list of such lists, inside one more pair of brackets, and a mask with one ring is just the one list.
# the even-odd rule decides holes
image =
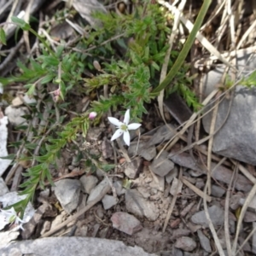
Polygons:
[[[241,75],[249,73],[249,70],[256,69],[254,55],[241,52],[237,55],[237,68]],[[246,67],[246,68],[244,68]],[[207,74],[205,79],[207,96],[215,84],[219,83],[224,66],[220,66]],[[210,106],[212,107],[212,106]],[[230,108],[230,99],[224,98],[218,106],[218,114],[215,129],[223,125],[224,119]],[[251,89],[245,86],[236,86],[234,99],[230,108],[229,117],[221,126],[220,131],[214,135],[212,150],[216,154],[224,155],[228,158],[241,160],[253,166],[256,165],[256,88]],[[203,118],[203,125],[207,132],[211,124],[212,113]]]

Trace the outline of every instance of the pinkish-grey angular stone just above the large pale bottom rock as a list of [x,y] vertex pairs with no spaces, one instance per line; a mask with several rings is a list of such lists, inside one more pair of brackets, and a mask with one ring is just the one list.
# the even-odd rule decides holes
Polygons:
[[125,232],[128,235],[133,235],[143,229],[140,221],[127,212],[114,212],[111,221],[113,228]]

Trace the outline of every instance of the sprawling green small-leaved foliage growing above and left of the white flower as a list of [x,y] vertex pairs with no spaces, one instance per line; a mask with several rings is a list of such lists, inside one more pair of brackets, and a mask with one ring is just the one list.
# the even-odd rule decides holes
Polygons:
[[[56,20],[63,20],[68,15],[67,12],[67,9],[57,12]],[[32,33],[40,40],[40,55],[30,58],[26,63],[18,61],[20,73],[0,78],[0,83],[24,84],[28,96],[44,96],[44,108],[52,101],[49,96],[52,84],[58,87],[58,90],[50,92],[55,97],[55,109],[49,109],[49,119],[44,129],[39,131],[37,127],[24,125],[19,127],[20,131],[26,132],[28,129],[32,132],[37,142],[43,137],[43,143],[40,143],[37,154],[34,152],[38,143],[26,142],[26,137],[24,142],[15,143],[16,146],[24,146],[25,153],[19,160],[32,163],[23,174],[25,182],[20,185],[21,194],[27,196],[24,201],[15,205],[16,211],[24,211],[38,186],[44,188],[46,181],[52,183],[49,166],[55,164],[61,149],[67,143],[75,141],[81,132],[84,139],[86,137],[90,125],[88,113],[75,117],[64,125],[66,115],[62,110],[67,113],[73,92],[90,98],[99,95],[91,103],[90,109],[98,114],[96,119],[100,119],[103,113],[108,113],[110,108],[113,111],[130,108],[131,118],[137,121],[142,119],[143,113],[147,113],[146,103],[157,96],[152,91],[159,84],[160,69],[169,47],[167,36],[171,32],[171,28],[166,26],[165,10],[161,10],[157,4],[144,3],[144,6],[138,5],[131,15],[96,13],[95,18],[101,21],[101,26],[96,30],[88,29],[86,37],[79,38],[75,43],[76,51],[65,46],[59,46],[54,51],[49,42],[24,20],[12,18],[22,30]],[[3,29],[0,29],[0,43],[6,44]],[[167,63],[169,69],[176,59],[177,52],[173,51]],[[102,67],[94,67],[96,60],[101,62]],[[180,65],[175,73],[176,85],[172,90],[177,90],[189,106],[199,108],[195,94],[189,89],[190,80],[186,73],[187,69]],[[108,96],[104,93],[106,88]],[[172,90],[166,87],[167,94]],[[61,103],[60,98],[67,103]],[[28,121],[33,117],[44,120],[43,113],[37,106],[30,108],[31,113],[26,116]],[[105,172],[113,168],[113,165],[100,163],[98,156],[90,156],[86,150],[84,154],[88,156],[85,165],[90,167],[91,172],[96,168]]]

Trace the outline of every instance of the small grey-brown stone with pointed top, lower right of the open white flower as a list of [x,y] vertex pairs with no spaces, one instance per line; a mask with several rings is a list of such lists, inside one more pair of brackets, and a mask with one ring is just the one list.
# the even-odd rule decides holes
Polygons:
[[174,164],[168,159],[168,152],[166,151],[163,151],[160,157],[154,159],[153,163],[150,165],[151,171],[160,177],[166,176],[173,168]]

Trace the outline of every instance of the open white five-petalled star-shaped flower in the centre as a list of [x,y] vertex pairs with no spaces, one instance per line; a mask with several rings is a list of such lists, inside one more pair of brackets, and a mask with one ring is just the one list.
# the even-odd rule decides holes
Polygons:
[[111,137],[111,141],[117,139],[120,137],[122,134],[124,134],[124,141],[127,146],[130,146],[130,133],[129,130],[137,130],[138,127],[141,126],[141,124],[129,124],[130,121],[130,109],[127,109],[125,112],[125,119],[124,122],[122,123],[119,121],[119,119],[115,119],[112,117],[108,118],[109,122],[115,125],[118,130],[114,132],[113,137]]

